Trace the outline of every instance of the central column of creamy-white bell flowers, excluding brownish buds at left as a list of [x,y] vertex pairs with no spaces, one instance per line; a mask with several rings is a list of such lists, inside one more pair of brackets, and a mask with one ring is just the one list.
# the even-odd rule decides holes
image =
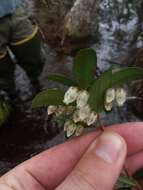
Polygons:
[[79,136],[84,129],[84,124],[90,126],[97,120],[97,114],[91,111],[88,105],[89,93],[86,90],[79,90],[77,87],[70,87],[65,93],[63,102],[66,105],[76,102],[72,119],[65,123],[67,136],[75,134]]

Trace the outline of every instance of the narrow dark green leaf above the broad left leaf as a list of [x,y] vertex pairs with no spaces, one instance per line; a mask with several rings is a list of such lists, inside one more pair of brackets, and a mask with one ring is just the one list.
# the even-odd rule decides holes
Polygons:
[[73,81],[73,80],[71,80],[69,78],[66,78],[63,75],[57,75],[57,74],[49,75],[48,80],[61,83],[61,84],[65,85],[65,86],[78,86],[78,84],[75,81]]

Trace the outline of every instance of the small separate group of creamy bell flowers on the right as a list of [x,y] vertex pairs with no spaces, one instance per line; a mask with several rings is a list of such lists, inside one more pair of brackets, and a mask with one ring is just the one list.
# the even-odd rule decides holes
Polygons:
[[113,103],[115,102],[118,106],[123,106],[127,100],[126,91],[123,88],[109,88],[105,94],[105,110],[111,111]]

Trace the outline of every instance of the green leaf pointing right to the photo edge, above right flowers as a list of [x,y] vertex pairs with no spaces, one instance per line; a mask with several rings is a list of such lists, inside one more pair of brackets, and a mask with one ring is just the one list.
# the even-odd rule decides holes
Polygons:
[[139,67],[130,67],[115,72],[112,76],[112,85],[121,85],[141,79],[143,79],[143,69]]

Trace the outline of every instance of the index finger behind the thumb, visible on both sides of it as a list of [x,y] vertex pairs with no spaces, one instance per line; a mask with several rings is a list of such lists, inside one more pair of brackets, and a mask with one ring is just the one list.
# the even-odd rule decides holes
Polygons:
[[[143,123],[114,125],[109,128],[117,131],[125,138],[129,154],[142,149]],[[23,182],[25,181],[24,175],[26,173],[31,174],[32,178],[41,183],[42,186],[47,189],[54,189],[75,167],[97,135],[99,135],[98,132],[90,133],[51,148],[14,169],[14,173],[18,176],[22,175]],[[11,172],[7,176],[11,178]],[[5,179],[7,178],[5,177]]]

